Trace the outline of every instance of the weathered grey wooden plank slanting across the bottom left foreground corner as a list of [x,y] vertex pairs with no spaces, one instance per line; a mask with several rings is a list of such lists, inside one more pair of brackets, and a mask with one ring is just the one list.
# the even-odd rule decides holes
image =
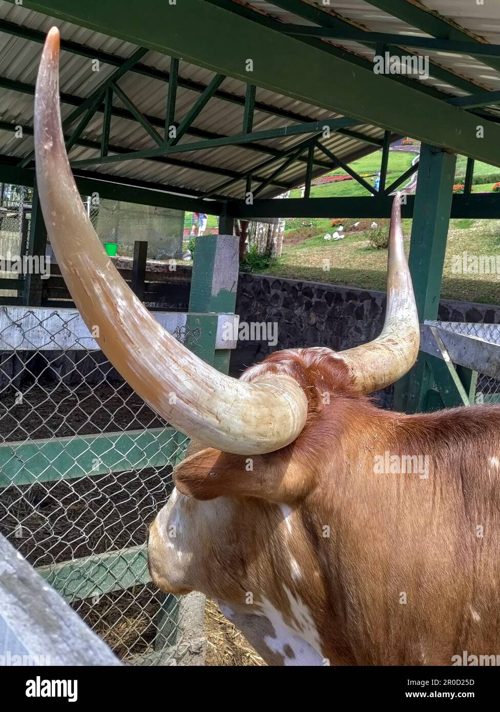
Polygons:
[[43,578],[0,535],[0,656],[11,659],[4,664],[120,665]]

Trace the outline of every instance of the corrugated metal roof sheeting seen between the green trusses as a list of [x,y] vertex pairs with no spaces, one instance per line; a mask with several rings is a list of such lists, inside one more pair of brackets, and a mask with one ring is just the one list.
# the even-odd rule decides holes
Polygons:
[[[409,26],[404,21],[375,8],[364,0],[330,0],[328,6],[325,6],[321,0],[316,0],[316,4],[323,11],[333,11],[336,16],[341,16],[353,23],[353,26],[368,31],[429,36],[418,28]],[[491,43],[500,43],[500,3],[493,8],[489,6],[486,8],[485,6],[477,6],[469,0],[428,0],[427,6],[464,26],[467,32],[472,33],[472,35],[484,38],[484,40]],[[310,22],[301,19],[301,17],[283,11],[269,2],[251,0],[247,7],[269,14],[269,16],[284,23],[311,25]],[[53,20],[45,15],[30,11],[23,6],[16,6],[4,1],[0,1],[0,21],[8,21],[16,26],[43,33],[46,33],[55,24],[60,28],[61,36],[64,40],[79,43],[88,48],[90,54],[93,51],[104,51],[112,53],[117,58],[125,59],[137,50],[137,46],[131,43],[90,31],[71,23]],[[188,32],[186,41],[189,42]],[[331,43],[370,61],[373,60],[373,46],[370,48],[358,42],[345,40],[331,41]],[[1,122],[13,127],[15,125],[26,127],[33,125],[33,96],[30,93],[30,88],[33,87],[36,81],[40,53],[40,43],[6,33],[0,26]],[[432,51],[427,54],[429,54],[431,61],[449,69],[452,73],[470,80],[478,87],[478,90],[481,88],[489,90],[500,88],[500,73],[481,63],[476,58],[459,54],[450,55],[440,51]],[[155,51],[147,52],[141,63],[162,72],[167,72],[170,68],[170,58]],[[90,57],[63,51],[61,53],[61,92],[83,100],[95,88],[98,88],[106,78],[112,75],[115,70],[116,66],[100,62],[98,71],[94,71]],[[214,74],[209,70],[181,61],[179,63],[179,76],[186,80],[184,84],[190,82],[207,85]],[[18,87],[14,90],[14,88],[7,87],[6,80],[22,82],[24,87]],[[451,83],[432,77],[432,75],[423,81],[450,95],[463,95],[465,93],[464,90],[459,90]],[[165,80],[130,71],[120,78],[118,83],[142,113],[155,117],[157,124],[161,125],[165,116],[167,101],[168,84]],[[232,78],[226,78],[220,87],[224,92],[240,98],[244,97],[245,88],[244,83]],[[175,112],[175,120],[177,122],[187,115],[199,95],[199,92],[187,86],[178,87]],[[293,115],[301,115],[301,117],[306,117],[306,120],[324,120],[337,116],[296,99],[259,88],[256,90],[256,101],[265,103],[276,110],[281,110],[282,113],[288,112],[288,115],[290,115],[290,112]],[[113,105],[117,108],[123,108],[122,103],[116,96],[113,100]],[[71,114],[74,108],[74,105],[63,103],[63,120]],[[497,109],[495,108],[494,110]],[[295,123],[294,120],[287,118],[286,115],[273,115],[268,111],[256,109],[254,113],[254,131],[283,127]],[[193,127],[204,132],[211,132],[214,135],[235,135],[241,132],[242,119],[243,107],[241,105],[223,100],[220,97],[214,97],[209,100],[202,113],[194,121]],[[103,114],[97,113],[85,128],[82,135],[83,140],[99,142],[102,127]],[[360,125],[353,128],[358,132],[365,133],[368,137],[377,139],[381,139],[384,133],[383,130],[373,126]],[[304,138],[304,136],[281,137],[276,140],[261,142],[261,145],[287,150],[294,145],[298,145]],[[184,144],[199,140],[199,135],[185,135],[180,143]],[[130,148],[131,150],[156,147],[155,142],[139,123],[122,117],[113,117],[110,143]],[[368,145],[363,141],[340,133],[332,133],[328,139],[323,140],[323,145],[328,147],[335,155],[347,161],[362,152],[375,150],[373,145]],[[16,138],[14,132],[6,130],[5,124],[0,126],[1,155],[9,155],[10,157],[19,157],[21,159],[28,155],[32,147],[33,138],[30,135],[25,135],[21,139]],[[87,159],[95,155],[97,155],[95,148],[88,146],[75,145],[71,151],[71,159],[75,160]],[[179,155],[172,155],[168,160],[164,159],[162,162],[135,159],[110,164],[97,164],[91,169],[93,172],[115,177],[145,180],[160,185],[170,184],[178,187],[179,192],[184,189],[204,194],[210,191],[217,192],[217,187],[229,179],[228,174],[230,176],[234,173],[244,174],[245,172],[250,172],[266,159],[269,159],[269,154],[251,150],[250,147],[228,146],[212,150],[184,152]],[[315,159],[328,163],[328,159],[318,150],[316,151]],[[255,172],[259,177],[266,178],[274,172],[278,165],[278,162],[274,162]],[[202,169],[203,167],[205,169]],[[326,170],[326,167],[324,171],[321,167],[316,167],[314,174],[321,174]],[[288,169],[280,174],[277,180],[281,184],[300,185],[303,183],[305,172],[305,162],[293,162]],[[228,197],[243,197],[244,188],[244,179],[239,179],[231,186],[224,188],[222,193]],[[280,189],[279,186],[270,184],[261,192],[260,197],[270,197],[280,192],[283,192],[283,187]]]

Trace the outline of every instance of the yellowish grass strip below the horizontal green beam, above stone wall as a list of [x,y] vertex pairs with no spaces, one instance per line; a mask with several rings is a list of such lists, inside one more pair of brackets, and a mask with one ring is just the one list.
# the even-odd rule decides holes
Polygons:
[[[364,226],[363,222],[361,227]],[[377,222],[379,225],[388,223],[387,220]],[[412,221],[407,219],[402,223],[408,250]],[[329,230],[330,234],[332,231]],[[442,283],[442,297],[445,299],[500,303],[500,275],[462,277],[452,273],[452,256],[461,255],[464,251],[471,255],[500,257],[500,220],[450,222]],[[322,231],[299,244],[289,244],[285,236],[281,259],[271,263],[261,273],[383,291],[386,285],[387,250],[370,247],[366,230],[355,234],[348,232],[345,239],[338,241],[325,241]]]

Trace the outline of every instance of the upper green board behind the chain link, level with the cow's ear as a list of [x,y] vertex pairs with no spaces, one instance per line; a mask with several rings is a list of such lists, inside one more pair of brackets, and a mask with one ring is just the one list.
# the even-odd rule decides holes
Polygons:
[[171,427],[4,443],[0,488],[173,466],[186,446]]

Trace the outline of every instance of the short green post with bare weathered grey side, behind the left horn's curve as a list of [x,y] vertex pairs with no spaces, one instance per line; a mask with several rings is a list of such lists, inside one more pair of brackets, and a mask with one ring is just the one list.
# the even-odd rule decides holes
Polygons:
[[204,235],[197,238],[187,326],[190,332],[199,330],[199,342],[192,350],[224,373],[229,372],[231,351],[215,350],[217,315],[234,314],[238,271],[237,236]]

